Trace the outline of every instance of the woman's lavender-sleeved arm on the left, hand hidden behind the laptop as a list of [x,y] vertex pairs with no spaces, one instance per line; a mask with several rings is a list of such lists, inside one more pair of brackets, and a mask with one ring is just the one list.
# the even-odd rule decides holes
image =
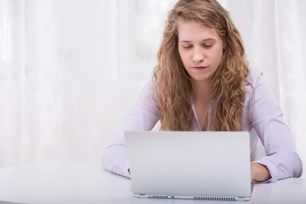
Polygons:
[[130,177],[128,171],[126,146],[124,141],[125,131],[151,131],[159,120],[159,108],[156,98],[152,96],[152,81],[148,82],[141,90],[135,104],[121,122],[120,128],[105,151],[102,159],[103,167],[113,173]]

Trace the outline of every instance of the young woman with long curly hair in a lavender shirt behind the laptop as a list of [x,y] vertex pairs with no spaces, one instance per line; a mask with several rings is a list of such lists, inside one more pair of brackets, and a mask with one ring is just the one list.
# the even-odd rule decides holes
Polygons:
[[[283,112],[216,0],[180,0],[169,12],[154,76],[106,149],[104,168],[130,177],[124,131],[150,131],[159,120],[161,131],[249,131],[252,181],[302,174]],[[267,156],[257,160],[258,138]]]

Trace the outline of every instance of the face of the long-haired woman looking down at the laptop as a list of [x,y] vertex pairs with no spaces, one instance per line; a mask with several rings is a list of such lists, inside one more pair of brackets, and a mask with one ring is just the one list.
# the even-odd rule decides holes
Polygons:
[[214,29],[183,22],[179,25],[179,53],[192,79],[209,83],[221,63],[223,42]]

